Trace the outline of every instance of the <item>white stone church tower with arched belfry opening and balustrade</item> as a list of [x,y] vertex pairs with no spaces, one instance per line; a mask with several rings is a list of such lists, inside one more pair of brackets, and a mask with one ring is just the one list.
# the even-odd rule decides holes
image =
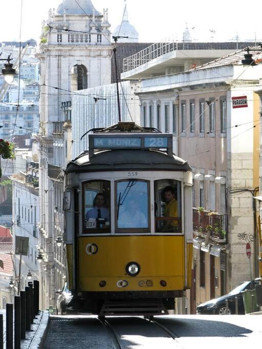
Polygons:
[[[61,0],[62,1],[62,0]],[[75,91],[111,83],[111,32],[108,10],[91,0],[63,0],[42,23],[40,41],[39,252],[41,309],[55,306],[55,291],[65,281],[63,169],[72,149],[71,96]],[[42,268],[42,267],[41,267]],[[45,292],[43,292],[45,290]]]

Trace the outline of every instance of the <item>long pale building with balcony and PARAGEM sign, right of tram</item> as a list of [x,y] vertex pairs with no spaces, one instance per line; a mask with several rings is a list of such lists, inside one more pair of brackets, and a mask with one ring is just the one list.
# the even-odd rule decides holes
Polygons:
[[254,90],[262,66],[243,65],[245,53],[142,79],[136,93],[141,125],[173,133],[176,154],[194,172],[191,313],[203,301],[258,276],[253,197],[259,184],[260,120]]

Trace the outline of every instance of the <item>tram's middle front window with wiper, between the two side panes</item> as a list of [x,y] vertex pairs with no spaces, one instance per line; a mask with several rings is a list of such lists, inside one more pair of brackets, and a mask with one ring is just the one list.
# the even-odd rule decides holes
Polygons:
[[149,216],[149,182],[116,182],[116,231],[148,232]]

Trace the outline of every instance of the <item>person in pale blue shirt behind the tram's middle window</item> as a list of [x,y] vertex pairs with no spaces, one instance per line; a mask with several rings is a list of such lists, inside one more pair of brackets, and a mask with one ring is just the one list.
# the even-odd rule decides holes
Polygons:
[[125,212],[118,219],[119,228],[147,228],[145,215],[139,210],[136,200],[129,199],[125,206]]

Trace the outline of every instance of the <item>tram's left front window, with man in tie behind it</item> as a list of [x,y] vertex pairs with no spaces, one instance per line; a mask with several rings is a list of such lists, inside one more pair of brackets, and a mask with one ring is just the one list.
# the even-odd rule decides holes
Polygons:
[[83,183],[83,232],[110,232],[110,181]]

